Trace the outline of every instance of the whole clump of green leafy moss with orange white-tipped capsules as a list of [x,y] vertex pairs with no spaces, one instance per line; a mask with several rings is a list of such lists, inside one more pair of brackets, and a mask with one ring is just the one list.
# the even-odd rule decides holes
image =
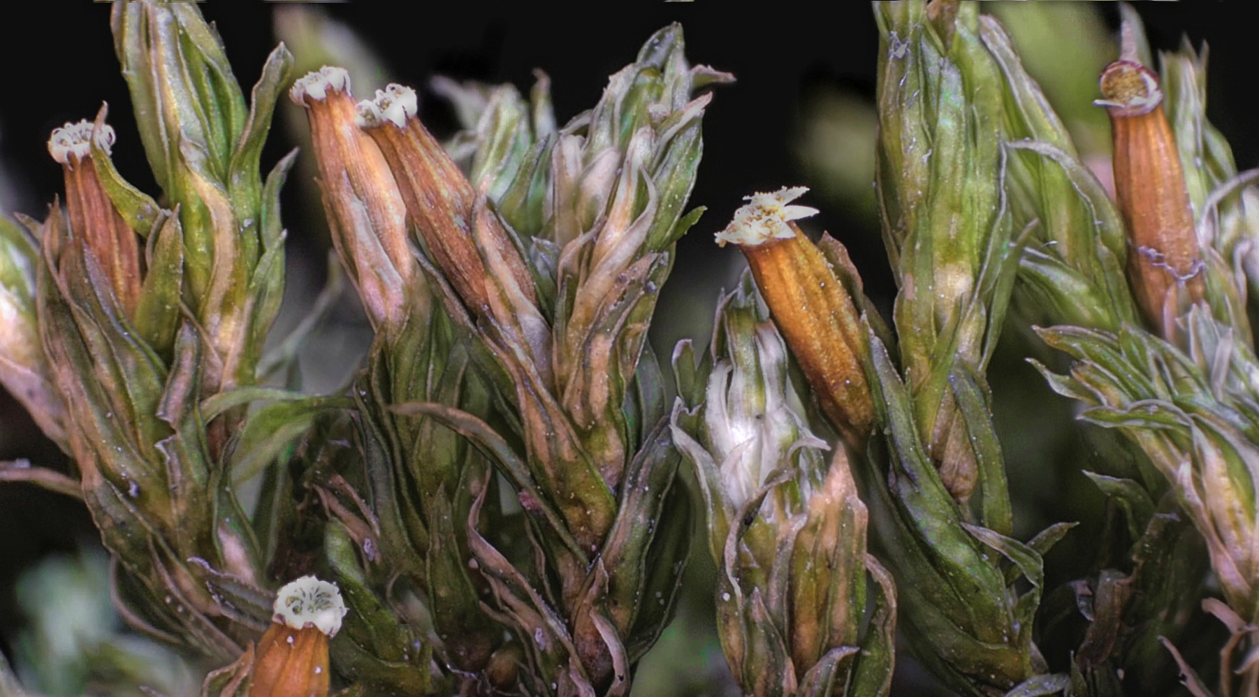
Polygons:
[[[0,384],[65,459],[0,482],[77,499],[108,577],[99,627],[60,637],[98,565],[31,571],[42,624],[0,694],[117,689],[178,652],[161,679],[206,697],[626,696],[681,603],[667,644],[709,628],[692,648],[724,667],[682,677],[710,691],[1259,696],[1259,175],[1206,118],[1205,50],[1153,55],[1127,6],[1115,38],[1003,9],[1016,42],[982,5],[874,3],[874,103],[844,112],[878,122],[872,155],[810,150],[822,191],[749,181],[714,220],[690,199],[738,87],[680,24],[606,47],[628,62],[577,113],[540,70],[528,93],[438,77],[442,140],[423,86],[355,84],[379,59],[339,54],[335,20],[281,26],[346,65],[295,74],[279,44],[247,89],[198,5],[116,3],[138,133],[121,104],[54,130],[62,191],[0,218]],[[1049,45],[1117,59],[1042,91]],[[310,147],[264,162],[281,103]],[[141,151],[150,190],[115,164]],[[298,157],[332,268],[279,337]],[[845,162],[874,164],[872,199]],[[845,200],[876,204],[890,302],[815,234]],[[663,360],[695,228],[748,270]],[[346,304],[370,345],[303,390],[296,356]],[[1005,390],[1076,423],[995,413]],[[1036,476],[1084,493],[1019,494],[1011,419],[1083,444]],[[104,640],[115,618],[170,653]]]

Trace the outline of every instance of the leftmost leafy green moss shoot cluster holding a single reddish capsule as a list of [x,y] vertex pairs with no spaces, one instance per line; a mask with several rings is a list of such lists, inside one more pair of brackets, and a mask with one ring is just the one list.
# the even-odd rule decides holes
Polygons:
[[278,192],[292,159],[266,181],[258,166],[291,58],[271,54],[247,104],[194,8],[118,4],[112,23],[162,196],[115,170],[104,109],[76,127],[88,136],[64,165],[68,213],[26,221],[39,258],[5,226],[6,288],[23,279],[31,293],[16,327],[38,328],[39,347],[14,336],[21,350],[5,362],[23,370],[5,382],[74,458],[77,481],[26,474],[87,503],[128,620],[232,658],[268,614],[267,522],[256,528],[235,497],[229,434],[243,413],[225,411],[228,390],[258,381],[283,287]]

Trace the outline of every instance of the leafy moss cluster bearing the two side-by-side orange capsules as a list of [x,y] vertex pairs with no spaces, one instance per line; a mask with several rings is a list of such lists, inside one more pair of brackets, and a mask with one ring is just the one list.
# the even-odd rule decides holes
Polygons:
[[[689,507],[646,330],[699,215],[684,215],[710,98],[695,93],[728,79],[682,49],[680,28],[657,33],[563,127],[544,75],[533,104],[510,86],[439,83],[468,126],[449,150],[471,187],[418,121],[402,141],[379,132],[390,123],[365,128],[410,206],[427,282],[402,294],[409,315],[373,315],[387,284],[368,276],[399,263],[371,260],[376,240],[390,244],[379,226],[335,215],[342,175],[321,164],[339,252],[378,331],[355,398],[365,458],[351,479],[366,496],[356,510],[349,489],[319,484],[339,521],[327,551],[363,616],[349,632],[404,620],[444,667],[438,681],[623,693],[670,615]],[[408,187],[434,208],[414,209]],[[424,672],[409,635],[385,638],[388,650]],[[342,666],[389,683],[384,663]]]

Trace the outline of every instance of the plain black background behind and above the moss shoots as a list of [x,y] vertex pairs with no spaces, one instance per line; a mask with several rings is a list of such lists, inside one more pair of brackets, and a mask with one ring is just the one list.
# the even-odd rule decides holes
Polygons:
[[[1222,3],[1138,3],[1155,48],[1171,49],[1187,34],[1211,47],[1209,116],[1230,140],[1238,165],[1259,165],[1253,130],[1255,38],[1240,9]],[[252,86],[276,40],[273,4],[206,3],[217,21],[237,78]],[[408,8],[403,10],[400,8]],[[709,214],[684,239],[671,286],[705,278],[725,268],[733,250],[718,249],[711,234],[729,220],[740,198],[757,190],[805,182],[791,155],[802,98],[820,84],[840,83],[872,98],[878,34],[865,3],[759,3],[735,10],[729,3],[588,4],[584,8],[515,3],[327,4],[322,8],[354,26],[384,58],[384,82],[427,84],[433,74],[512,82],[528,89],[533,68],[551,77],[555,111],[563,123],[598,99],[607,75],[631,62],[641,43],[670,21],[685,28],[687,57],[729,70],[734,86],[720,88],[704,122],[705,152],[691,201]],[[0,24],[0,166],[15,187],[10,209],[43,218],[60,190],[60,171],[47,155],[52,128],[91,118],[110,102],[118,132],[116,161],[122,174],[156,191],[140,151],[126,84],[118,74],[103,4],[23,3]],[[20,9],[18,9],[20,8]],[[1113,5],[1105,10],[1114,24]],[[1064,36],[1070,50],[1070,36]],[[373,86],[379,87],[379,86]],[[360,91],[365,92],[365,91]],[[287,101],[285,101],[287,106]],[[453,127],[436,99],[424,118],[441,133]],[[277,120],[263,166],[269,167],[292,137]],[[807,184],[807,182],[805,182]],[[313,209],[288,187],[285,220],[291,254],[322,258],[321,242],[307,229]],[[0,211],[6,213],[6,211]],[[893,292],[878,230],[823,210],[818,226],[847,244],[874,294]],[[724,273],[724,272],[721,272]],[[666,293],[669,289],[666,288]],[[667,299],[669,296],[666,296]],[[662,301],[663,302],[663,301]],[[3,330],[0,330],[3,331]],[[696,337],[704,343],[704,337]],[[59,453],[30,420],[0,393],[0,459],[30,458],[57,466]],[[82,506],[20,484],[0,484],[0,648],[16,629],[13,579],[23,567],[54,551],[69,551],[96,532]]]

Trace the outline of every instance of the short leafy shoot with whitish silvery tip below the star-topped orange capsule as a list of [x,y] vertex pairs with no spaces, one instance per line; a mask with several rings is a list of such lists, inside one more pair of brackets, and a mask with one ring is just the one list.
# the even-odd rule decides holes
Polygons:
[[674,356],[674,439],[708,512],[723,648],[749,694],[888,694],[895,589],[866,552],[845,450],[813,435],[767,315],[745,274],[703,360],[690,342]]

